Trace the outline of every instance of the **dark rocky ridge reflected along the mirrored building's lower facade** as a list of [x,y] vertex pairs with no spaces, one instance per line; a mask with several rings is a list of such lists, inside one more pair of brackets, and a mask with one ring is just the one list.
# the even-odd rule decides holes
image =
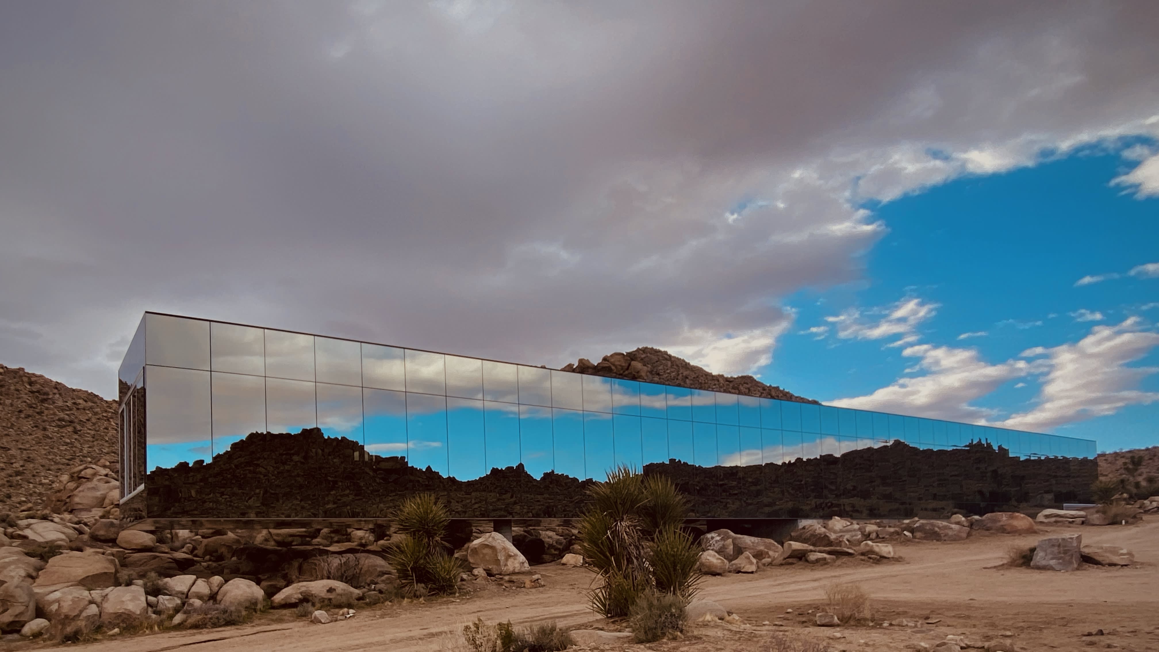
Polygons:
[[[895,442],[785,464],[705,469],[670,461],[644,472],[671,476],[697,517],[889,517],[1084,500],[1096,466],[1019,459],[989,444],[921,450]],[[461,481],[369,456],[357,442],[312,428],[255,433],[209,464],[156,469],[146,491],[151,517],[382,517],[418,491],[443,495],[457,517],[571,517],[590,484],[551,472],[537,480],[522,465]]]

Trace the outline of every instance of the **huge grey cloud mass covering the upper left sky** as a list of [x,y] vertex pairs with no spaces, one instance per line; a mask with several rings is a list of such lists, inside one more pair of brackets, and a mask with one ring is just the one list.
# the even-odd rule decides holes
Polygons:
[[0,360],[109,396],[150,309],[743,371],[780,297],[859,275],[885,226],[857,202],[1159,129],[1157,24],[1109,2],[8,3]]

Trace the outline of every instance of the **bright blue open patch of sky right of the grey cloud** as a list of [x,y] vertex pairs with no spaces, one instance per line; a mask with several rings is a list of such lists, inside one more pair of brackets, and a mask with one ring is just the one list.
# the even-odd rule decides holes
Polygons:
[[[936,396],[920,407],[927,415],[969,418],[964,413],[976,407],[985,412],[974,418],[997,422],[1037,410],[1021,427],[1095,439],[1101,450],[1159,443],[1159,346],[1153,340],[1142,342],[1142,355],[1129,355],[1121,368],[1102,367],[1108,377],[1056,379],[1056,385],[1077,382],[1077,393],[1092,397],[1085,403],[1070,393],[1054,403],[1042,396],[1049,365],[1000,369],[993,386],[978,393],[967,386],[970,381],[955,377],[963,367],[939,368],[940,374],[914,368],[921,357],[909,349],[975,352],[963,364],[982,365],[968,368],[967,376],[976,378],[987,372],[985,367],[1012,360],[1049,361],[1049,355],[1022,354],[1074,345],[1093,328],[1154,338],[1159,269],[1144,266],[1159,262],[1159,198],[1111,184],[1138,166],[1134,159],[1149,144],[1100,144],[870,207],[888,231],[865,252],[862,277],[789,297],[794,331],[759,374],[825,403],[845,399],[838,404],[906,412],[914,411],[912,401],[925,389],[910,386],[895,397],[874,398],[874,392],[903,378],[941,377]],[[866,333],[906,304],[918,306],[911,327],[882,336]],[[855,319],[834,320],[851,310],[858,311]],[[843,324],[861,329],[841,336]],[[903,338],[912,342],[891,346]],[[905,355],[907,349],[913,355]],[[1099,365],[1114,352],[1089,355]]]

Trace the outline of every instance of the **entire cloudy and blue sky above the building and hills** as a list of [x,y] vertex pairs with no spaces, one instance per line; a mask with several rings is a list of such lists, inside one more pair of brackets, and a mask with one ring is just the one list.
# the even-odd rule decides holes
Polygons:
[[0,362],[145,310],[1159,444],[1159,3],[0,6]]

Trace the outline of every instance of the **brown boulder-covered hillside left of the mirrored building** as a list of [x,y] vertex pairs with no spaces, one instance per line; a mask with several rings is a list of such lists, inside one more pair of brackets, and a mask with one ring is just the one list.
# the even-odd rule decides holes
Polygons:
[[43,507],[59,476],[99,459],[117,459],[116,401],[0,364],[0,512]]

